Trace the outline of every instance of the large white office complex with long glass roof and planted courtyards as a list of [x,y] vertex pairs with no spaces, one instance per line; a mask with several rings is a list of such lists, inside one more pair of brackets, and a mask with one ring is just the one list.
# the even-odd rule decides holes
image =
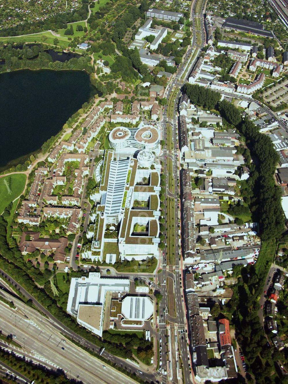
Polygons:
[[116,161],[113,151],[105,152],[96,219],[87,232],[93,240],[84,249],[84,258],[158,256],[160,174],[159,166],[143,167],[154,160],[149,152],[139,152],[140,164],[132,158]]

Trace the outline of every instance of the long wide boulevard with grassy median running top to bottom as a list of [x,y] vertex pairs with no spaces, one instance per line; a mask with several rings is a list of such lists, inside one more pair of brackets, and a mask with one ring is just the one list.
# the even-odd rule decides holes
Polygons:
[[[171,333],[171,336],[174,334],[174,326],[178,329],[178,342],[179,342],[179,353],[180,353],[180,358],[182,360],[183,364],[183,377],[181,382],[189,383],[194,381],[193,379],[193,373],[191,372],[190,374],[190,353],[188,349],[188,338],[187,338],[187,319],[186,319],[186,309],[185,309],[185,303],[184,303],[184,293],[183,293],[183,273],[182,273],[182,262],[179,260],[179,255],[180,255],[180,245],[179,245],[179,235],[178,235],[178,230],[179,227],[177,225],[178,223],[178,194],[179,194],[179,187],[178,187],[178,180],[179,180],[179,169],[180,169],[180,164],[179,164],[179,159],[181,157],[179,149],[176,149],[176,142],[178,139],[178,118],[177,118],[177,105],[179,101],[179,97],[181,96],[180,93],[180,86],[182,83],[185,82],[185,79],[187,76],[189,76],[191,68],[194,66],[195,62],[197,61],[198,58],[198,53],[203,48],[205,44],[205,32],[204,32],[204,25],[203,25],[203,13],[204,13],[204,3],[202,3],[201,11],[200,11],[200,21],[201,21],[201,45],[196,44],[196,30],[195,30],[195,5],[196,5],[196,0],[192,3],[191,6],[191,15],[190,15],[190,20],[192,21],[192,41],[191,41],[191,47],[189,48],[187,55],[184,57],[184,62],[182,65],[179,66],[179,69],[177,71],[177,74],[175,78],[172,80],[172,82],[169,84],[167,90],[166,90],[166,98],[169,102],[170,97],[173,94],[173,90],[176,88],[178,89],[177,95],[175,97],[174,105],[173,105],[173,119],[169,119],[167,116],[168,113],[168,105],[165,106],[164,108],[164,113],[162,117],[162,121],[160,122],[160,127],[162,129],[162,140],[165,141],[166,145],[162,147],[162,155],[161,155],[161,160],[163,162],[163,168],[162,172],[166,177],[166,188],[164,189],[164,193],[166,197],[172,197],[174,199],[174,217],[175,217],[175,233],[174,233],[174,239],[175,239],[175,250],[174,250],[174,255],[175,255],[175,263],[173,266],[167,266],[167,253],[166,253],[166,248],[164,249],[164,252],[161,253],[161,267],[162,271],[157,275],[157,280],[159,281],[161,285],[161,292],[163,295],[163,299],[161,300],[159,304],[159,344],[161,346],[162,350],[162,368],[164,371],[168,368],[167,366],[167,360],[170,360],[172,356],[168,355],[168,345],[167,343],[167,337],[166,337],[166,324],[167,321],[172,325],[172,330],[173,333]],[[189,63],[189,68],[188,62],[191,58],[192,53],[194,50],[197,50],[197,54],[194,57],[194,60]],[[185,76],[183,74],[185,73]],[[183,79],[181,83],[179,83],[179,80],[183,76]],[[170,123],[172,127],[172,142],[174,143],[174,150],[168,151],[167,150],[167,130],[166,130],[166,125],[167,122]],[[178,157],[177,157],[178,155]],[[175,185],[176,189],[174,191],[169,191],[168,188],[168,179],[169,179],[169,172],[168,172],[168,158],[171,159],[172,161],[172,172],[173,172],[173,178],[175,180]],[[164,217],[168,217],[167,209],[166,206],[164,205],[163,209],[163,215]],[[167,235],[168,233],[165,231],[164,235]],[[169,238],[166,240],[169,242]],[[166,283],[167,279],[171,278],[174,281],[174,294],[175,294],[175,313],[176,313],[176,318],[171,318],[168,314],[168,295],[167,295],[167,290],[166,290]],[[172,336],[174,337],[174,336]],[[161,342],[160,342],[161,341]],[[174,344],[173,344],[174,346]],[[173,347],[172,347],[173,348]],[[175,348],[175,347],[174,347]],[[173,360],[173,359],[172,359]],[[171,369],[172,372],[167,372],[167,376],[164,374],[162,377],[162,380],[164,382],[172,381],[172,382],[177,382],[177,376],[176,376],[176,371],[175,371],[175,364],[173,361],[171,361]],[[190,364],[191,365],[191,364]]]

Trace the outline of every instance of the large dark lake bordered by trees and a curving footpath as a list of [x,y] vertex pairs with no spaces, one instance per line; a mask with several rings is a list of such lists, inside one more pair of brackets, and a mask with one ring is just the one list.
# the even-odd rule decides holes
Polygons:
[[0,74],[0,167],[39,149],[93,93],[83,71]]

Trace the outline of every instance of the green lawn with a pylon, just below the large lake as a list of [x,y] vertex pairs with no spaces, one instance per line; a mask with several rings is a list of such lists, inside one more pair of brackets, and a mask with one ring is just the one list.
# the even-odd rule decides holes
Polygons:
[[[8,193],[7,187],[4,184],[7,180],[11,193]],[[23,192],[26,182],[26,175],[16,173],[10,176],[0,178],[0,214],[16,197],[20,196]]]

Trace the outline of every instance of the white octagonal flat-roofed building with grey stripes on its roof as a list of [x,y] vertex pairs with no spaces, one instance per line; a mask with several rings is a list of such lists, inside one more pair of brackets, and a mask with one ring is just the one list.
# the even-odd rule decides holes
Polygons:
[[127,296],[121,311],[128,320],[148,320],[153,314],[153,302],[149,296]]

